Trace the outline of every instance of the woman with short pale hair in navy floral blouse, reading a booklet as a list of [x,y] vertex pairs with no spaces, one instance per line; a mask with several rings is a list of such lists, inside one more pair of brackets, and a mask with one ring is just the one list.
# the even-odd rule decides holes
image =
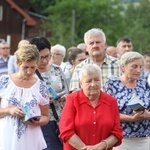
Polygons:
[[[106,82],[105,91],[118,102],[123,128],[122,144],[114,150],[149,150],[150,91],[140,77],[144,61],[138,52],[127,52],[120,59],[122,75]],[[144,103],[146,109],[133,110],[128,103],[133,95]]]

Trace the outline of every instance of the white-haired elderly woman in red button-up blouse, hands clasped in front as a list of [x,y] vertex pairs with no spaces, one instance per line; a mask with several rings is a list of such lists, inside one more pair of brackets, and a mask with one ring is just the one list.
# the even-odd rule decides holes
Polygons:
[[117,102],[100,90],[96,64],[84,65],[79,78],[81,90],[68,95],[60,119],[64,150],[112,150],[123,138]]

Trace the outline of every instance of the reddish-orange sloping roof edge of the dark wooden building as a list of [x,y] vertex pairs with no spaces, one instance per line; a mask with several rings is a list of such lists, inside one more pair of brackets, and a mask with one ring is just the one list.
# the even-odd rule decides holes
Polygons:
[[36,21],[28,15],[23,9],[21,9],[13,0],[6,0],[6,2],[11,6],[12,9],[15,9],[19,12],[25,19],[28,26],[35,26]]

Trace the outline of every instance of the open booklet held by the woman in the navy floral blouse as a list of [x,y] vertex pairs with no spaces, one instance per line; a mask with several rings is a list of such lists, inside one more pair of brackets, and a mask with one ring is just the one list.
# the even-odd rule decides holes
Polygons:
[[146,109],[144,102],[140,100],[139,97],[136,95],[132,96],[131,100],[129,101],[127,105],[130,106],[130,108],[135,111],[142,111]]

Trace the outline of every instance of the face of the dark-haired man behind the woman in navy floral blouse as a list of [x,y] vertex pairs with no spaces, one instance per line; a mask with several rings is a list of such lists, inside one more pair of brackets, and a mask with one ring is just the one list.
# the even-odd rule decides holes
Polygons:
[[133,45],[131,42],[127,43],[127,42],[123,42],[121,41],[118,45],[117,45],[117,52],[119,53],[120,57],[126,53],[126,52],[131,52],[133,51]]

